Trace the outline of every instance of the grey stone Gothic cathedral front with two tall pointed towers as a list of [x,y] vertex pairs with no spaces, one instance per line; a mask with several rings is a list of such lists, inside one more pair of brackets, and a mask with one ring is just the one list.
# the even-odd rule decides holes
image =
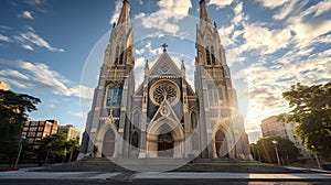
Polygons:
[[114,159],[241,159],[250,152],[221,39],[200,1],[194,85],[185,65],[163,53],[135,87],[135,40],[124,0],[105,51],[81,156]]

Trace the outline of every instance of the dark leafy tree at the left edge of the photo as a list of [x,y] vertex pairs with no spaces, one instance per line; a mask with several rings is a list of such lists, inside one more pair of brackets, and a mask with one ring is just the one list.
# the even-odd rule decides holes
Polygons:
[[17,156],[22,127],[28,112],[36,110],[39,98],[0,90],[0,159],[13,162]]

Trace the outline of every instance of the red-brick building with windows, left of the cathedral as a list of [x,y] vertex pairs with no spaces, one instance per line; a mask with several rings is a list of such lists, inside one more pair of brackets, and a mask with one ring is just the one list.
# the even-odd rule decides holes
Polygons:
[[29,144],[38,146],[40,140],[57,133],[58,122],[56,120],[31,121],[24,123],[22,137],[26,138]]

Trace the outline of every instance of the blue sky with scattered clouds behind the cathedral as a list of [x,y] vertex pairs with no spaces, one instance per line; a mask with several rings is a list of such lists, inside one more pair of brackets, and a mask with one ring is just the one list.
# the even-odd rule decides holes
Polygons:
[[[331,79],[330,0],[206,0],[237,88],[250,142],[260,120],[288,111],[290,85]],[[111,23],[121,0],[1,0],[0,80],[42,99],[33,119],[84,130]],[[197,0],[131,0],[137,85],[167,42],[193,83]],[[82,90],[81,90],[82,89]],[[82,106],[81,106],[82,105]],[[83,112],[81,111],[83,109]]]

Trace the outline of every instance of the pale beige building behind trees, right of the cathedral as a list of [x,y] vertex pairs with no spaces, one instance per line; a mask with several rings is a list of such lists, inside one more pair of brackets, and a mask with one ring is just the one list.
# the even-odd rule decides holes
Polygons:
[[287,138],[299,149],[300,155],[308,157],[311,154],[307,153],[302,140],[297,138],[295,129],[299,123],[286,123],[279,120],[278,116],[271,116],[261,121],[260,128],[263,137],[281,137]]

